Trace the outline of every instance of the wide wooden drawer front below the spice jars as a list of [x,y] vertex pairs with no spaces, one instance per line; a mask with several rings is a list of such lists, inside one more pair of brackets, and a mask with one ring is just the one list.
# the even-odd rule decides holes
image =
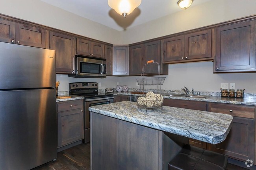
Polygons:
[[237,117],[254,119],[254,106],[239,106],[235,104],[215,104],[211,103],[211,112],[224,113]]

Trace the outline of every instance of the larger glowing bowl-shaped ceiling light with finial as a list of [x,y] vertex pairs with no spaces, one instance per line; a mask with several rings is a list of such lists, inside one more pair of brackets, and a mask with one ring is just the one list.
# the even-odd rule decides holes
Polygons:
[[126,17],[141,4],[141,0],[108,0],[108,5],[117,13]]

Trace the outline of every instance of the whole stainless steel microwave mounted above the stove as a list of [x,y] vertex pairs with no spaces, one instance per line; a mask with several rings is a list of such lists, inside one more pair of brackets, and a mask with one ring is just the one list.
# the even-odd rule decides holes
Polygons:
[[106,77],[106,58],[87,57],[76,55],[76,74],[69,77]]

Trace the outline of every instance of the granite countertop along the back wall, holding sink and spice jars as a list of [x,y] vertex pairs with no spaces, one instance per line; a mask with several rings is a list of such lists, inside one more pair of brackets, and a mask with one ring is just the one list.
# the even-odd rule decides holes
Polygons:
[[[211,96],[207,99],[198,99],[198,98],[190,98],[190,97],[165,96],[167,93],[161,93],[161,94],[163,95],[163,98],[165,98],[165,99],[180,99],[180,100],[188,100],[188,101],[204,101],[204,102],[217,102],[217,103],[243,104],[243,105],[256,106],[256,98],[230,98],[230,97]],[[128,92],[114,92],[114,95],[143,96],[143,95],[140,95],[140,94],[132,94],[132,93],[130,93],[130,91],[128,91]]]

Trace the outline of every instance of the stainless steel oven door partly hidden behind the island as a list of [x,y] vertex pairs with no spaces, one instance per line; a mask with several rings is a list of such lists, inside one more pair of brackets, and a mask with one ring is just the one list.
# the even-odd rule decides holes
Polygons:
[[84,143],[90,141],[90,111],[89,107],[101,105],[101,104],[109,104],[114,102],[114,97],[103,97],[96,99],[85,99],[84,103]]

